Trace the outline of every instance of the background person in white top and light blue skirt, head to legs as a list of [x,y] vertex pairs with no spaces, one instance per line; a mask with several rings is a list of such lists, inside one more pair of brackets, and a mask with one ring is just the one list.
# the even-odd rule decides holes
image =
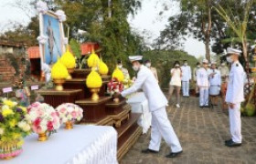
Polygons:
[[220,72],[217,69],[216,62],[211,63],[211,69],[208,70],[209,74],[209,95],[212,105],[218,105],[218,96],[221,84]]

